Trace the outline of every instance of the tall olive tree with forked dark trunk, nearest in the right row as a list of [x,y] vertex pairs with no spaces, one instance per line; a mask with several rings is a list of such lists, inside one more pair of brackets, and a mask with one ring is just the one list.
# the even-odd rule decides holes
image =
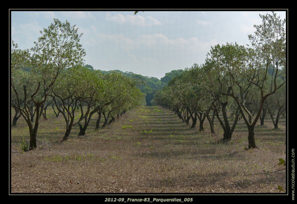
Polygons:
[[[218,69],[228,79],[219,81],[225,87],[220,92],[232,97],[238,105],[242,118],[248,127],[249,148],[256,148],[255,125],[260,118],[265,100],[286,83],[286,20],[276,13],[260,15],[261,25],[255,25],[255,35],[249,35],[252,46],[229,45],[219,47],[216,57]],[[236,48],[236,49],[234,49]],[[230,51],[228,51],[230,50]],[[236,52],[234,50],[237,50]],[[226,61],[232,63],[226,66]],[[268,68],[273,65],[273,77]],[[279,82],[278,79],[282,79]],[[270,83],[267,83],[270,81]],[[226,82],[226,83],[225,83]],[[253,117],[247,104],[253,97],[259,97],[259,107]]]

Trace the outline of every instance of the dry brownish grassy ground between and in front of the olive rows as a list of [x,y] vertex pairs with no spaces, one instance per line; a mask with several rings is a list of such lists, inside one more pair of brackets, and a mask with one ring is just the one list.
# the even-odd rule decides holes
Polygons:
[[[12,193],[279,193],[286,189],[285,120],[274,130],[268,119],[257,126],[260,149],[245,150],[247,129],[240,121],[229,144],[189,129],[169,110],[139,107],[109,127],[60,143],[64,121],[48,110],[41,119],[37,149],[21,153],[28,135],[23,119],[11,127]],[[216,132],[222,130],[216,123]]]

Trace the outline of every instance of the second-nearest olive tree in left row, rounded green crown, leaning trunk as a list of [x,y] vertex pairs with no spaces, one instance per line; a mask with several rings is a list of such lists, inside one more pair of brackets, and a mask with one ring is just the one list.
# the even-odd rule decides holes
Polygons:
[[77,115],[76,110],[85,101],[94,100],[98,86],[99,81],[93,72],[82,66],[70,67],[64,70],[58,77],[57,83],[52,88],[51,97],[53,98],[56,109],[62,114],[65,120],[66,131],[62,141],[68,139],[72,127],[84,118],[84,114],[78,118],[75,117]]

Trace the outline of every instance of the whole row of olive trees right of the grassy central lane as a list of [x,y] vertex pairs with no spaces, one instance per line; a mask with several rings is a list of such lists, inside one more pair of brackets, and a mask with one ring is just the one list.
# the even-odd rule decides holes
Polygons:
[[[251,46],[213,46],[203,65],[194,64],[170,81],[154,101],[186,122],[192,118],[192,127],[198,117],[200,130],[207,118],[212,133],[216,116],[226,141],[241,117],[249,130],[249,148],[256,148],[254,129],[260,117],[264,121],[263,108],[270,113],[275,127],[286,109],[286,20],[275,12],[260,17],[262,24],[254,26],[255,35],[249,35]],[[228,113],[233,121],[229,121]]]

